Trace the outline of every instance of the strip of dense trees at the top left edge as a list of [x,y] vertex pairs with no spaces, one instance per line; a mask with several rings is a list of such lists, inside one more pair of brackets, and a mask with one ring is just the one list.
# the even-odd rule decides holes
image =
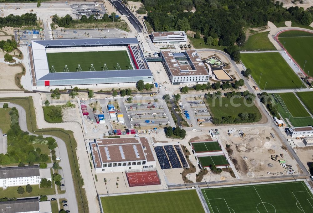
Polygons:
[[2,27],[22,27],[37,25],[37,16],[35,13],[25,13],[21,16],[10,14],[6,17],[0,17],[0,28]]

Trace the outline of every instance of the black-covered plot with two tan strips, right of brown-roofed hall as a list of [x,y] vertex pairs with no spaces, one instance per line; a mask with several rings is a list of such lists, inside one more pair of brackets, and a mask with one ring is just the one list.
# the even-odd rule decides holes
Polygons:
[[189,168],[180,145],[155,146],[154,150],[162,169]]

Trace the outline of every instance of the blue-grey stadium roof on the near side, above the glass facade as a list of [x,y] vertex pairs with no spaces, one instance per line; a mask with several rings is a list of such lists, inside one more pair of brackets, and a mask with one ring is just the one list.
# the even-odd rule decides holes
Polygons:
[[38,81],[53,81],[64,79],[93,79],[93,78],[120,78],[152,76],[151,70],[112,70],[112,71],[83,71],[83,72],[56,72],[44,75]]

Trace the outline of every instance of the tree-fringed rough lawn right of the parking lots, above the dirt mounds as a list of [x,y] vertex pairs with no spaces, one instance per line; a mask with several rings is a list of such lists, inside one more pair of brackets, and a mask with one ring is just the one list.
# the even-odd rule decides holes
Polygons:
[[207,99],[207,103],[209,104],[209,109],[213,117],[222,118],[228,116],[238,116],[242,112],[247,112],[247,113],[256,113],[257,115],[256,121],[261,120],[261,113],[259,112],[258,108],[255,105],[246,106],[244,104],[243,97],[234,98],[233,103],[231,103],[231,98],[223,97],[221,99],[222,99],[221,102],[219,102],[219,99],[216,99],[215,103],[212,98]]

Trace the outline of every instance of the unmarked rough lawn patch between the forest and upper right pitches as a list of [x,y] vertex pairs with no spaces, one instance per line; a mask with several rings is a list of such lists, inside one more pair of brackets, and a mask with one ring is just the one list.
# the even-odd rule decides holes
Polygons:
[[276,50],[272,42],[269,41],[267,35],[269,31],[250,35],[244,46],[240,50]]

